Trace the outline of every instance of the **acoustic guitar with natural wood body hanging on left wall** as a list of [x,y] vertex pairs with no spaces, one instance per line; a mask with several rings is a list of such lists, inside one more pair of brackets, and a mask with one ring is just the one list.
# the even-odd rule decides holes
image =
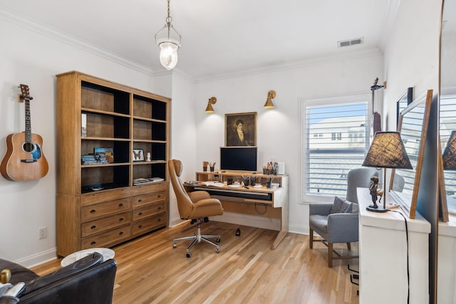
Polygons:
[[6,154],[0,164],[1,175],[15,182],[41,179],[48,173],[48,162],[44,157],[43,138],[31,132],[30,96],[28,85],[20,85],[19,102],[25,103],[26,130],[6,137]]

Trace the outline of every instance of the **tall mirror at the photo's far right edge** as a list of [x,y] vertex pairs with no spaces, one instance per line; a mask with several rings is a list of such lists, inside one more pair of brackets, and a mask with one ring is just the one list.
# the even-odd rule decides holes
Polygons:
[[[440,26],[439,150],[456,130],[456,0],[444,0]],[[440,154],[442,155],[442,154]],[[440,158],[442,160],[442,158]],[[456,171],[439,163],[440,223],[437,239],[437,303],[455,303]],[[445,209],[447,216],[445,218]],[[448,216],[449,213],[449,216]]]

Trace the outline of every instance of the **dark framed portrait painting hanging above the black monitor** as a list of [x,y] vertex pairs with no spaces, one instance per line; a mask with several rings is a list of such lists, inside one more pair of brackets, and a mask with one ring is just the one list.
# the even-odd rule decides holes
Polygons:
[[224,133],[225,147],[256,146],[257,112],[225,114]]

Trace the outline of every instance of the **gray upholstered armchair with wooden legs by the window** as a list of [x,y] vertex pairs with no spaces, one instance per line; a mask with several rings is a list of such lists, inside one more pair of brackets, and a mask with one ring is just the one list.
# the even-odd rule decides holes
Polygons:
[[[328,267],[333,266],[333,259],[358,258],[358,256],[341,256],[333,249],[333,243],[347,243],[351,250],[351,242],[358,241],[358,199],[356,188],[368,188],[371,177],[378,177],[375,168],[362,167],[352,169],[347,175],[346,201],[338,203],[346,206],[348,210],[331,213],[334,203],[309,204],[309,247],[314,247],[314,241],[320,241],[328,246]],[[335,199],[337,201],[338,199]],[[323,239],[314,239],[314,231]],[[334,255],[335,254],[335,255]]]

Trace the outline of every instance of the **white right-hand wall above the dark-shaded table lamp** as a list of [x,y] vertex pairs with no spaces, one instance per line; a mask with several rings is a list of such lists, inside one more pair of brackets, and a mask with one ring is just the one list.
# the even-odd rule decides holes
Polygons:
[[396,102],[413,87],[417,98],[428,89],[438,91],[439,26],[442,1],[401,0],[388,33],[383,61],[388,130],[396,130]]

